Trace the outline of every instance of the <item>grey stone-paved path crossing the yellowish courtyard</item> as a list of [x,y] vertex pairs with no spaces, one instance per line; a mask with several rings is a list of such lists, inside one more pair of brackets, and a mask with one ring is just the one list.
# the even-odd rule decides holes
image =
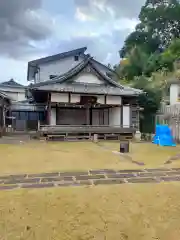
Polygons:
[[180,181],[180,168],[89,170],[0,176],[0,190]]

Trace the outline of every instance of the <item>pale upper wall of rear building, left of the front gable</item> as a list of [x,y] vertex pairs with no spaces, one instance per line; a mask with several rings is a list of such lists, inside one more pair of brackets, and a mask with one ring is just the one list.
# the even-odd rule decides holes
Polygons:
[[69,71],[71,68],[75,67],[82,58],[79,57],[79,61],[74,61],[74,57],[67,57],[62,60],[47,62],[39,65],[40,73],[39,78],[36,82],[44,82],[49,79],[49,75],[61,75]]

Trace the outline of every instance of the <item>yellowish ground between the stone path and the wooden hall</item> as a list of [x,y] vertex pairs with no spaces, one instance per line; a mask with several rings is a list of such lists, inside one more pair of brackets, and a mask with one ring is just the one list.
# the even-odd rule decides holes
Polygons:
[[[0,175],[91,169],[134,169],[163,167],[179,147],[159,147],[151,143],[130,143],[129,156],[139,166],[118,154],[118,142],[40,142],[19,141],[0,144]],[[180,161],[168,167],[178,167]]]

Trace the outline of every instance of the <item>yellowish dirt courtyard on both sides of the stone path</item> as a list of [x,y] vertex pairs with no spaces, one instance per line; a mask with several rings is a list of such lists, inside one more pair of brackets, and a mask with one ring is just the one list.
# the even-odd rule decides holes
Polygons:
[[[180,165],[179,159],[164,164],[179,154],[179,146],[131,143],[130,158],[144,165],[118,151],[117,142],[0,144],[0,176],[96,169],[144,171]],[[178,240],[179,187],[178,181],[171,181],[0,191],[0,239]]]

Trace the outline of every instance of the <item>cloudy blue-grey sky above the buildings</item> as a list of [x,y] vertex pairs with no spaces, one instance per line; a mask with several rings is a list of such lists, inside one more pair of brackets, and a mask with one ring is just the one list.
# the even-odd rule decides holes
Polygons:
[[119,62],[145,0],[0,0],[0,82],[27,84],[28,61],[87,47],[96,60]]

